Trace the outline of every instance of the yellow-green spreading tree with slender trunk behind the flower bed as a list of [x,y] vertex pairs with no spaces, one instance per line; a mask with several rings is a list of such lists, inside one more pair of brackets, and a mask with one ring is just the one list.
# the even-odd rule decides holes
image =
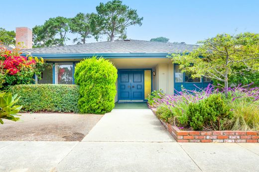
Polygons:
[[192,52],[172,54],[173,63],[192,77],[208,77],[224,83],[228,96],[229,77],[233,68],[243,67],[240,73],[259,70],[259,34],[218,34],[216,37],[198,42],[201,46]]

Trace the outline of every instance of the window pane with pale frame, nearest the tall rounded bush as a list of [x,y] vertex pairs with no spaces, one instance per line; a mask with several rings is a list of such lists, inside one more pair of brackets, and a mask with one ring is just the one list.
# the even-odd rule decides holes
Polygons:
[[56,84],[73,84],[73,63],[56,63]]

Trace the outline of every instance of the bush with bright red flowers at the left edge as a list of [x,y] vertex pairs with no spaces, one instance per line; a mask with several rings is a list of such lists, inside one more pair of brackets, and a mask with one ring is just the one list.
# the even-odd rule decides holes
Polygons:
[[21,56],[19,49],[12,51],[0,48],[0,89],[16,84],[32,84],[33,75],[39,75],[43,69],[43,59]]

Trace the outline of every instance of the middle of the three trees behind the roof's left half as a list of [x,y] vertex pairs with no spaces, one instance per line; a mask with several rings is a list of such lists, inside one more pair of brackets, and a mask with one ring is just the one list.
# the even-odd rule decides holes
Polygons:
[[78,13],[74,18],[71,18],[69,23],[70,31],[72,33],[77,33],[80,35],[80,38],[75,38],[73,41],[77,44],[85,44],[86,39],[91,36],[97,37],[97,25],[96,25],[97,15],[95,13],[84,14],[82,12]]

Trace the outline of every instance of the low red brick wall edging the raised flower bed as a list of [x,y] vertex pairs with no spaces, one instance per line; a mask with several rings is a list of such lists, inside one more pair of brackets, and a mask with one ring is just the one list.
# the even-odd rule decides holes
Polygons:
[[160,121],[174,139],[181,143],[259,143],[259,131],[182,131]]

